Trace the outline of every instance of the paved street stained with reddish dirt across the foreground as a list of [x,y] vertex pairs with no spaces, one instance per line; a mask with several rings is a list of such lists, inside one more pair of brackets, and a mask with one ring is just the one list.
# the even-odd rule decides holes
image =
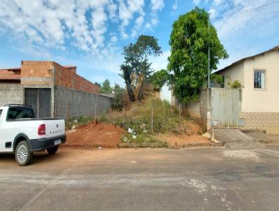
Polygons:
[[279,145],[0,155],[0,210],[279,210]]

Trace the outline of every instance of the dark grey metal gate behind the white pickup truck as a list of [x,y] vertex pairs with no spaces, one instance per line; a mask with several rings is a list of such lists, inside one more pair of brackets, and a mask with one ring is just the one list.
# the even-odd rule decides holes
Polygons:
[[25,104],[32,106],[37,118],[51,116],[50,89],[25,89]]

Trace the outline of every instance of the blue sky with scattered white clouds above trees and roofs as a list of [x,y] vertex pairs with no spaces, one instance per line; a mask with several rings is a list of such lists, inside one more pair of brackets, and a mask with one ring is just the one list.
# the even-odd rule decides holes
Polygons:
[[0,68],[21,60],[56,61],[77,66],[92,82],[109,78],[123,85],[123,46],[140,34],[155,36],[163,55],[151,58],[153,68],[166,68],[172,23],[195,6],[211,13],[229,53],[219,68],[279,45],[276,0],[2,0]]

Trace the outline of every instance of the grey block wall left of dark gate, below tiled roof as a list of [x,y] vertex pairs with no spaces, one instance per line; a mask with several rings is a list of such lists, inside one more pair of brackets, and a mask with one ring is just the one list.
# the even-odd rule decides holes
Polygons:
[[23,104],[23,95],[20,83],[0,82],[0,106],[10,103]]

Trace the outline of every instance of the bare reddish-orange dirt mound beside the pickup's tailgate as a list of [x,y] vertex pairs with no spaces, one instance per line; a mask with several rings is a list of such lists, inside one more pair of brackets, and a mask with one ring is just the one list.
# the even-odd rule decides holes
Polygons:
[[117,147],[121,142],[123,129],[114,124],[99,123],[80,126],[67,132],[67,142],[70,147]]

